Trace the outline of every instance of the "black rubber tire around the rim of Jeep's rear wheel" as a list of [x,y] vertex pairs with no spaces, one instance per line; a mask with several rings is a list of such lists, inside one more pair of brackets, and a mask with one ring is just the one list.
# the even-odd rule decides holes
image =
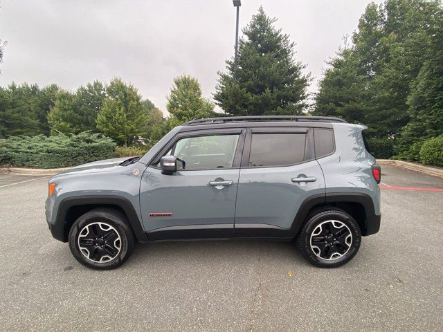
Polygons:
[[[350,250],[348,250],[345,253],[345,255],[343,255],[342,257],[334,260],[321,259],[311,249],[312,232],[320,223],[328,220],[336,220],[345,223],[345,225],[347,225],[347,227],[350,229],[350,232],[352,233],[352,243]],[[305,258],[307,258],[308,261],[310,261],[312,264],[316,266],[324,268],[334,268],[346,264],[359,251],[361,244],[361,231],[359,225],[356,223],[356,221],[354,221],[354,219],[352,219],[352,217],[349,214],[341,212],[339,210],[329,210],[317,214],[311,217],[309,221],[307,221],[305,227],[302,230],[300,240],[301,240],[300,244],[302,246],[303,254],[305,255]]]

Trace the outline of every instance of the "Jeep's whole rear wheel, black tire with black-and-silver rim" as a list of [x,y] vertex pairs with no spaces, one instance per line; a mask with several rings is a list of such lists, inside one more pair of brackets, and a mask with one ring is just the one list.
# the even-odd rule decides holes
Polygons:
[[319,268],[336,268],[359,251],[361,230],[347,212],[325,208],[307,217],[296,243],[309,263]]

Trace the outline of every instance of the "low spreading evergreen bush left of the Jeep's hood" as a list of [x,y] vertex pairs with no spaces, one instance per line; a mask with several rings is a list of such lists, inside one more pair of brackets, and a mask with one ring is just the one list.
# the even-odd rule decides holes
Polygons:
[[113,158],[116,143],[99,133],[12,136],[0,142],[0,165],[39,168],[69,167]]

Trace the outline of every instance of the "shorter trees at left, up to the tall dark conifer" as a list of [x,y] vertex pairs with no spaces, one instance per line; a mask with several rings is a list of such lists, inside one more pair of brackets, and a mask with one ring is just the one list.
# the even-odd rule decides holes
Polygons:
[[120,78],[99,81],[76,91],[56,84],[10,84],[0,87],[0,132],[3,136],[45,136],[58,133],[105,133],[120,145],[138,137],[159,140],[177,124],[213,115],[214,105],[201,95],[198,80],[189,75],[174,79],[168,95],[170,117]]

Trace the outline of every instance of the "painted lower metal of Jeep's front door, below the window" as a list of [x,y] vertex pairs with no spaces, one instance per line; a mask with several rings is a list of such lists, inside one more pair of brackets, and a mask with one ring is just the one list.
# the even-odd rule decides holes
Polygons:
[[[147,167],[140,189],[143,224],[147,232],[185,225],[233,229],[239,169],[179,171],[173,175]],[[232,181],[213,187],[210,181]],[[159,215],[165,212],[165,215]],[[152,213],[157,214],[152,216]]]

